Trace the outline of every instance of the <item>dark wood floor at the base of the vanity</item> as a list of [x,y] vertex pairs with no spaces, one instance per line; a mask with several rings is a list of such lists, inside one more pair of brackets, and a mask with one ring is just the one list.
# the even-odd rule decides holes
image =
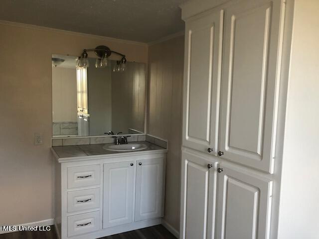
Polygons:
[[[57,239],[54,226],[47,232],[14,232],[0,235],[0,239]],[[101,239],[176,239],[162,225],[121,233]]]

